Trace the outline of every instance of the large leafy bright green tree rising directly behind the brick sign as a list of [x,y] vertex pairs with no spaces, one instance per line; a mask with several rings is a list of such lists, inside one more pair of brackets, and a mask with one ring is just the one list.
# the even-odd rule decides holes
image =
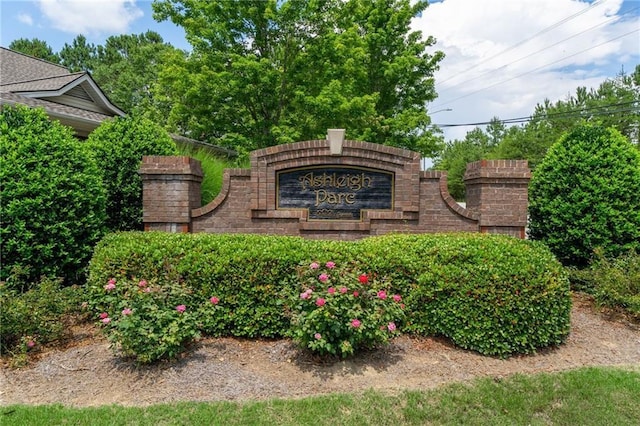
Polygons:
[[171,130],[246,150],[324,138],[432,154],[426,104],[443,54],[410,31],[426,1],[163,0],[154,16],[182,26],[193,52],[173,54],[155,87]]

